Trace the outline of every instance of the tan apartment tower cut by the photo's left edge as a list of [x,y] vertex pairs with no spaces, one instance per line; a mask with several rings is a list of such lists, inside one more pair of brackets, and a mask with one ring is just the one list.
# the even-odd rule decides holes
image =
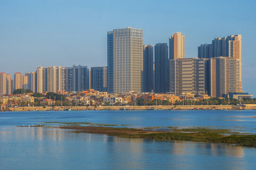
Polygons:
[[0,72],[0,94],[11,94],[11,75]]

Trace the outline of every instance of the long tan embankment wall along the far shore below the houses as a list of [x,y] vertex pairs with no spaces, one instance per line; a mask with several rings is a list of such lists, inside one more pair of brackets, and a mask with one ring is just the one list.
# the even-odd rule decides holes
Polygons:
[[50,111],[50,110],[256,110],[256,106],[244,105],[178,105],[178,106],[77,106],[77,107],[10,107],[8,111]]

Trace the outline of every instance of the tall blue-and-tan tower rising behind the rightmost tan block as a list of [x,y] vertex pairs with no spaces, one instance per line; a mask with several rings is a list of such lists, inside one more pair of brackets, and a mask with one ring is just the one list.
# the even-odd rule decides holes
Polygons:
[[236,60],[237,92],[242,91],[242,36],[229,35],[212,41],[212,57],[232,57]]

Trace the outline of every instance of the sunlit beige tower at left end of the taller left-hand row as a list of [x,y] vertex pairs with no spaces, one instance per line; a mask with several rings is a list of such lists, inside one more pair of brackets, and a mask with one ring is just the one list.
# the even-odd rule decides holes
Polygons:
[[36,74],[37,93],[47,92],[47,68],[42,66],[37,67]]

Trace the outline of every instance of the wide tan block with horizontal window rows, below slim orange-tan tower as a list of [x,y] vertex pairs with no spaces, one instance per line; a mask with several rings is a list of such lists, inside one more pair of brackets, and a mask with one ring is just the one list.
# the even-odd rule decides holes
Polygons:
[[187,58],[170,59],[170,92],[208,93],[209,59]]

